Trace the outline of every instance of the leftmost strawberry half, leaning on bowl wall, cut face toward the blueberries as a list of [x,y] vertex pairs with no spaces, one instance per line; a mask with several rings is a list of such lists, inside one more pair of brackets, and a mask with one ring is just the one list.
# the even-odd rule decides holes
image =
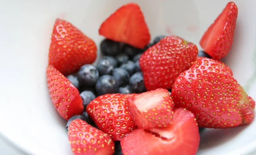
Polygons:
[[49,94],[60,116],[68,120],[81,114],[84,107],[77,88],[53,66],[49,65],[46,71]]

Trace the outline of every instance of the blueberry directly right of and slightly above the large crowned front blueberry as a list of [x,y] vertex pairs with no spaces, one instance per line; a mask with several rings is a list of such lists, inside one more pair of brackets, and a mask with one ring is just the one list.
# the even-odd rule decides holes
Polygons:
[[120,86],[129,83],[130,75],[124,68],[115,68],[113,70],[113,76],[119,82]]

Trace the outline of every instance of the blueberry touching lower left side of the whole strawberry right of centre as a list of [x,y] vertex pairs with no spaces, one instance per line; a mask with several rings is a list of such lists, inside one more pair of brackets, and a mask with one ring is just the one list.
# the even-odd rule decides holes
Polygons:
[[142,72],[136,72],[131,76],[130,86],[133,93],[143,93],[146,91]]

